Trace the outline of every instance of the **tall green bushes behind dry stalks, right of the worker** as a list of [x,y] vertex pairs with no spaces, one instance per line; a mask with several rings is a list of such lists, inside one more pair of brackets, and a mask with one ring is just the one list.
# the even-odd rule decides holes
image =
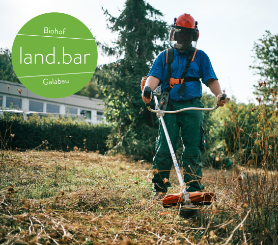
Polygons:
[[[258,98],[255,104],[237,103],[231,99],[222,108],[204,112],[208,143],[202,156],[204,164],[225,168],[233,164],[244,165],[250,160],[258,166],[266,161],[273,162],[278,137],[277,94],[275,88],[265,84],[264,89],[260,88],[262,99]],[[271,101],[267,95],[271,95]],[[214,106],[207,95],[203,103],[205,107]]]

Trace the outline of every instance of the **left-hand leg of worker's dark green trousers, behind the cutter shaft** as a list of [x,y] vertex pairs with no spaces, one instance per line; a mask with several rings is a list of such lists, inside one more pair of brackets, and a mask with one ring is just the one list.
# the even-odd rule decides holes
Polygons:
[[[169,110],[169,107],[167,107]],[[177,149],[177,141],[179,137],[179,126],[176,122],[176,115],[171,116],[165,114],[164,122],[167,127],[167,131],[171,140],[174,151]],[[170,186],[170,182],[164,183],[164,178],[169,180],[170,170],[172,166],[172,157],[166,140],[166,136],[163,130],[163,126],[160,122],[159,125],[159,136],[156,144],[156,155],[153,159],[153,169],[158,169],[159,172],[154,174],[152,182],[156,191],[167,192],[167,188]]]

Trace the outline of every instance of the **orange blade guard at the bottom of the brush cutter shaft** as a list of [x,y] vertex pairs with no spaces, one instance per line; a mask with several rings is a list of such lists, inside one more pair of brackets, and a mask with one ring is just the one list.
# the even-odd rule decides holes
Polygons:
[[[188,194],[193,205],[210,205],[216,199],[216,195],[210,192],[189,192]],[[184,202],[184,199],[180,193],[167,195],[162,198],[163,207],[165,208],[176,207],[181,202]]]

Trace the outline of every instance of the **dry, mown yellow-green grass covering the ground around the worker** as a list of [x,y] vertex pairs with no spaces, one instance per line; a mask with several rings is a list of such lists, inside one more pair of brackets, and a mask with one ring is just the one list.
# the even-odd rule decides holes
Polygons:
[[[200,207],[198,218],[184,220],[178,209],[164,209],[153,201],[150,168],[148,163],[97,152],[2,154],[0,243],[225,244],[231,235],[227,244],[275,240],[274,229],[267,228],[258,239],[257,224],[247,215],[248,194],[238,194],[245,180],[231,179],[231,171],[204,168],[206,190],[215,192],[217,200]],[[242,171],[256,173],[251,168]],[[169,193],[179,192],[174,172],[170,181]]]

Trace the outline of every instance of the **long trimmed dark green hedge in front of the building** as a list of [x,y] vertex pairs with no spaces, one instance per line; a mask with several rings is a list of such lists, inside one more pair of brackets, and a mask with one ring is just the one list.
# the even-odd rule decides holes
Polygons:
[[[34,149],[48,142],[49,149],[99,150],[104,153],[108,148],[106,141],[111,132],[111,126],[105,123],[89,124],[74,118],[54,118],[31,116],[24,120],[23,116],[14,117],[5,114],[0,118],[1,141],[12,149]],[[13,134],[12,138],[10,135]],[[12,143],[11,143],[12,141]],[[84,148],[85,147],[85,148]]]

